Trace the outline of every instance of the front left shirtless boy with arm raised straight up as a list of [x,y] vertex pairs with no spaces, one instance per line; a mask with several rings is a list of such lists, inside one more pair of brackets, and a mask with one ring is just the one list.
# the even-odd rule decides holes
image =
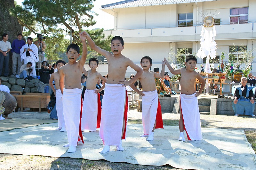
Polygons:
[[[79,33],[83,43],[83,54],[77,62],[80,55],[80,49],[77,44],[70,44],[67,48],[68,63],[60,68],[60,91],[62,93],[63,114],[68,135],[68,144],[63,147],[69,147],[68,152],[76,152],[78,141],[83,141],[81,131],[82,116],[82,90],[81,75],[87,56],[86,32]],[[65,81],[64,81],[65,78]],[[64,86],[65,82],[65,86]]]

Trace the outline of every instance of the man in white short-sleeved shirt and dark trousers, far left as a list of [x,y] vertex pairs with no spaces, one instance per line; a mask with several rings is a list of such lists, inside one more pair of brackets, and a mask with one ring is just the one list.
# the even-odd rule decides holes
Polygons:
[[11,43],[7,41],[9,36],[7,33],[2,34],[3,40],[0,41],[0,75],[4,68],[4,77],[9,75],[9,51],[12,49]]

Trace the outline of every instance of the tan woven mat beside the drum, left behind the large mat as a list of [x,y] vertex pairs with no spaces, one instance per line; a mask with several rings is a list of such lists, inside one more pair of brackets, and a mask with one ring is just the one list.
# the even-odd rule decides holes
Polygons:
[[4,119],[0,121],[0,132],[17,129],[17,128],[27,128],[31,126],[38,126],[41,124],[55,123],[55,120],[40,120],[40,119]]

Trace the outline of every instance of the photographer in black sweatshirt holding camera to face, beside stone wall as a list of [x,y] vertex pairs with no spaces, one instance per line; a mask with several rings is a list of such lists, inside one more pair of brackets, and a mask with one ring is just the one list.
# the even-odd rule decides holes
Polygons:
[[40,85],[37,89],[38,92],[48,93],[49,92],[49,80],[50,74],[54,73],[52,65],[46,61],[42,62],[42,68],[38,70],[40,76]]

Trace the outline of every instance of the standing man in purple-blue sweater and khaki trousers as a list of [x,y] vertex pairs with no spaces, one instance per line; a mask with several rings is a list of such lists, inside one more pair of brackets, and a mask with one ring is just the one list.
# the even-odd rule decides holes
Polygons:
[[[12,41],[12,75],[19,74],[20,67],[21,67],[21,60],[20,60],[20,49],[22,46],[26,44],[25,41],[22,39],[22,34],[18,33],[17,38]],[[17,69],[18,65],[18,69]]]

